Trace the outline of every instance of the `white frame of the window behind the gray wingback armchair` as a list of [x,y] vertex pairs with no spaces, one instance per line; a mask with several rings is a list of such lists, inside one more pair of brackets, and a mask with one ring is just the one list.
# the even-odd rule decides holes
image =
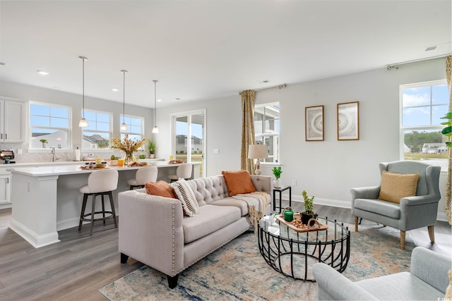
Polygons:
[[[444,106],[444,104],[432,104],[432,94],[430,94],[430,104],[429,105],[420,105],[420,106],[412,106],[412,107],[429,107],[430,108],[430,125],[410,125],[410,126],[404,126],[403,125],[403,109],[405,108],[403,106],[403,90],[407,88],[413,88],[413,87],[427,87],[427,86],[434,86],[434,85],[447,85],[447,80],[430,80],[427,82],[415,82],[412,84],[406,84],[406,85],[400,85],[399,86],[399,104],[400,104],[400,160],[405,160],[405,130],[439,130],[441,131],[444,128],[444,125],[432,125],[432,107],[434,106]],[[444,115],[446,115],[446,112]]]

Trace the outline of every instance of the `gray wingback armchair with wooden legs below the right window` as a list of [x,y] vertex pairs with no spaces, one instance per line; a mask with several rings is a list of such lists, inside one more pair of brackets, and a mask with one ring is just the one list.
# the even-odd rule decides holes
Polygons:
[[438,213],[440,166],[420,161],[394,161],[379,164],[380,173],[419,173],[415,197],[403,197],[400,204],[379,198],[381,185],[352,188],[352,216],[355,216],[355,232],[358,218],[375,221],[400,230],[400,249],[405,249],[405,231],[428,227],[434,242],[434,224]]

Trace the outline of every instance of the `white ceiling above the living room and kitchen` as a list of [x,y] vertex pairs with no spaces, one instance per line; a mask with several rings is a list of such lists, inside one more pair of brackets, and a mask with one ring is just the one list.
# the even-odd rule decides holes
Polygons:
[[153,80],[158,106],[172,106],[451,53],[451,1],[1,1],[0,10],[1,81],[81,94],[86,56],[85,95],[122,102],[126,69],[126,104],[148,107]]

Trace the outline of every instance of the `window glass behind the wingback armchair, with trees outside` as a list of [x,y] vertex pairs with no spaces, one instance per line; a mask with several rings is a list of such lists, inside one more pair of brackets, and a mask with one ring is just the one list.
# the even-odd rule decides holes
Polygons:
[[448,149],[441,117],[448,112],[448,102],[446,80],[400,86],[403,159],[434,160],[446,166]]

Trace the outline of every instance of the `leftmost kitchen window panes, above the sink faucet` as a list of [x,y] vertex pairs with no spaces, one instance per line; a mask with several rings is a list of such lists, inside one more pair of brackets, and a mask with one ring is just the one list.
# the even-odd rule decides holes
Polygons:
[[70,148],[71,108],[30,102],[30,149]]

